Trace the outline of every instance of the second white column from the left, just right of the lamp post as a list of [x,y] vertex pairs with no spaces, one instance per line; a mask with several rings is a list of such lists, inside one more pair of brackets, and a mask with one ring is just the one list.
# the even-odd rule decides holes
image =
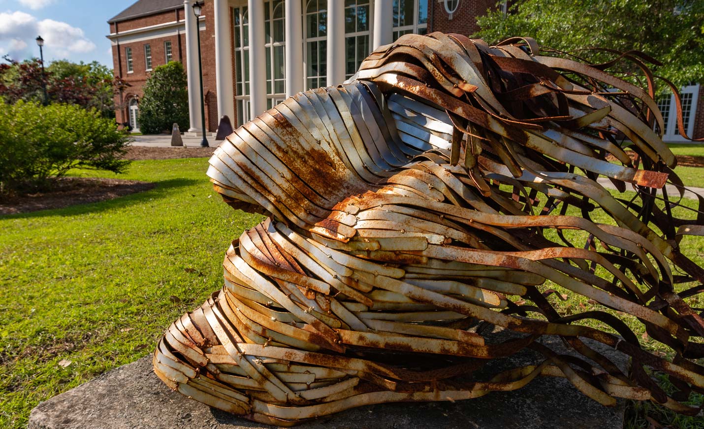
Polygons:
[[234,78],[230,43],[230,4],[215,0],[215,90],[218,92],[218,121],[223,115],[234,124]]

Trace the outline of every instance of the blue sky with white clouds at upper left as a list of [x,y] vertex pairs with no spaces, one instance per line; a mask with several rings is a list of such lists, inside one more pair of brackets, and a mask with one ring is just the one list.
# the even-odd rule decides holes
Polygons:
[[107,20],[136,0],[0,0],[0,56],[99,61],[113,66]]

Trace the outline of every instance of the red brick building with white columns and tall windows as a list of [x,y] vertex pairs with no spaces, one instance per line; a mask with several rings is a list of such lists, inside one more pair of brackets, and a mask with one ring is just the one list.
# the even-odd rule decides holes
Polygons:
[[[232,125],[241,125],[288,95],[342,82],[375,46],[400,35],[433,31],[470,35],[478,30],[476,17],[497,2],[206,0],[197,18],[193,4],[193,0],[138,0],[108,20],[115,75],[131,85],[115,100],[120,107],[118,122],[139,128],[142,85],[152,68],[171,59],[184,63],[189,78],[188,131],[202,132],[196,28],[201,35],[206,131],[215,132],[223,115]],[[676,129],[674,98],[665,97],[658,104],[667,124],[665,140],[684,140]],[[685,87],[683,105],[688,134],[704,137],[704,89]]]

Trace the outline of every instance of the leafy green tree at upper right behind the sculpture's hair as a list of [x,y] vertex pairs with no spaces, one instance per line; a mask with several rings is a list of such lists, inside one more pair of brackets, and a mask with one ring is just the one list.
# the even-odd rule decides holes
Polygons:
[[[654,73],[677,87],[704,82],[704,0],[519,0],[508,15],[490,11],[477,23],[481,30],[474,37],[490,44],[533,37],[597,63],[616,55],[580,49],[642,51],[662,63],[651,68]],[[620,71],[638,73],[626,64]]]

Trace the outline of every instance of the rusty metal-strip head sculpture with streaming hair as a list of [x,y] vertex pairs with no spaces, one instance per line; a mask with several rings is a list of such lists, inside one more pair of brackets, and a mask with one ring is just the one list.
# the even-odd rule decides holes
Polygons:
[[[604,71],[619,61],[639,66],[648,89]],[[704,323],[684,301],[702,286],[674,292],[704,282],[679,247],[704,235],[704,213],[672,215],[663,185],[683,187],[646,61],[405,35],[345,85],[260,114],[220,144],[208,176],[234,209],[268,218],[228,249],[222,290],[166,331],[154,371],[193,399],[284,426],[365,404],[479,397],[536,375],[604,405],[696,414],[648,375],[666,373],[678,398],[704,388],[693,361]],[[636,196],[612,196],[600,176]],[[597,210],[610,224],[591,220]],[[601,306],[560,315],[546,282]],[[616,311],[674,359],[643,349]],[[486,342],[487,323],[517,337]],[[553,352],[546,335],[583,357]],[[631,356],[630,370],[583,338]],[[542,359],[474,377],[525,348]]]

